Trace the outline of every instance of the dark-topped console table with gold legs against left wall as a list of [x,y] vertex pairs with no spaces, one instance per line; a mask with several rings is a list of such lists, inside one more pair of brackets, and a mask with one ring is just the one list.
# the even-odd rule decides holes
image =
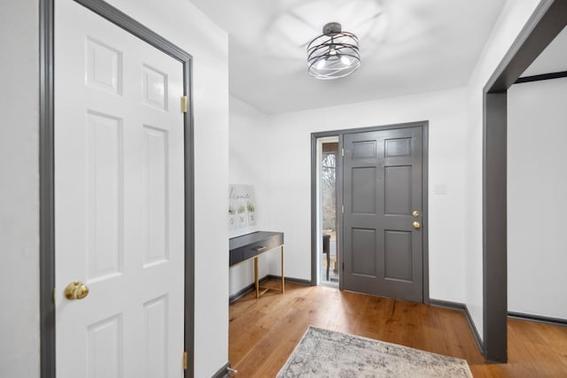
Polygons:
[[[257,231],[252,234],[241,235],[229,239],[229,266],[236,266],[249,259],[254,259],[254,286],[256,297],[259,298],[271,288],[260,287],[258,282],[258,256],[261,253],[271,251],[274,248],[282,248],[282,289],[271,289],[285,291],[283,279],[283,232]],[[261,289],[261,291],[260,291]]]

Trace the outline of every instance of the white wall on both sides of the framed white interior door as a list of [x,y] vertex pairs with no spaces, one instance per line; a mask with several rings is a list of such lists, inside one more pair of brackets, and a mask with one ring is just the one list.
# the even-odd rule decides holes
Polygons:
[[[228,361],[228,35],[185,0],[110,3],[193,56],[195,376],[211,376]],[[39,376],[38,9],[0,12],[0,376],[11,378]]]

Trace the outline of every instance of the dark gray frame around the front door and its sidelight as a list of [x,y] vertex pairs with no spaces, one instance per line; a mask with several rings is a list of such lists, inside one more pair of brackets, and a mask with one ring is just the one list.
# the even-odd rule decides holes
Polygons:
[[[311,133],[311,285],[317,284],[317,139],[326,136],[338,136],[338,150],[344,147],[343,138],[346,134],[365,133],[371,131],[395,130],[399,128],[422,127],[423,130],[423,156],[422,156],[422,237],[423,237],[423,303],[429,304],[429,121],[399,123],[374,127],[343,128],[339,130]],[[343,161],[337,160],[337,177],[340,182],[337,185],[338,206],[340,208],[343,198]],[[338,212],[338,233],[342,236],[343,214]],[[340,237],[340,243],[342,243]],[[342,248],[340,249],[343,250]],[[342,276],[339,269],[339,277]],[[339,279],[338,289],[344,289],[343,280]]]

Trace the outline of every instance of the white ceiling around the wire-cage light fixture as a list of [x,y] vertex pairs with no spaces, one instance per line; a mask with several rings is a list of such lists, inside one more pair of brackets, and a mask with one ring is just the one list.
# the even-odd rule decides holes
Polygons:
[[[465,85],[505,0],[191,0],[229,33],[229,91],[262,112]],[[330,21],[360,38],[361,68],[320,81],[307,43]]]

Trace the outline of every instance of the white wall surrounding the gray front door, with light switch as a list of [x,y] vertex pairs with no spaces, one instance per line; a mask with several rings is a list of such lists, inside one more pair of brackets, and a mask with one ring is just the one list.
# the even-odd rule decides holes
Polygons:
[[[271,225],[285,234],[286,276],[311,278],[311,133],[417,120],[430,122],[431,298],[464,301],[463,89],[270,116]],[[447,184],[447,195],[432,194],[436,184]]]

